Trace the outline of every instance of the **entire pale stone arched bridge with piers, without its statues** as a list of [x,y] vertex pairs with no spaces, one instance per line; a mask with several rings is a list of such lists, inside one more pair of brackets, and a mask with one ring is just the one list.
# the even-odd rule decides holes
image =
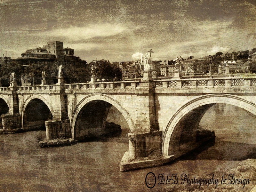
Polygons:
[[130,128],[129,151],[120,162],[120,170],[127,171],[170,162],[214,139],[214,132],[198,130],[198,125],[215,103],[235,105],[256,115],[256,79],[12,84],[0,88],[0,131],[45,127],[47,140],[86,140],[117,131],[107,128],[108,111],[113,106]]

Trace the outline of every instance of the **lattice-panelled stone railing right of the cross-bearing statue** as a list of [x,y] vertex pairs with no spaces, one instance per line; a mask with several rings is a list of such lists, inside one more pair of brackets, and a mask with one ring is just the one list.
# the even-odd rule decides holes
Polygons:
[[256,86],[256,78],[200,78],[155,80],[155,87],[216,87],[216,86]]

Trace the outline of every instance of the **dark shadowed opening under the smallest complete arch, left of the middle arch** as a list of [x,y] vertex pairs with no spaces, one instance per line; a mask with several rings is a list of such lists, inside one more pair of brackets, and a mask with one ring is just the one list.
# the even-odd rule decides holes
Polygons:
[[24,111],[23,127],[45,130],[45,121],[52,120],[52,113],[40,99],[32,99]]

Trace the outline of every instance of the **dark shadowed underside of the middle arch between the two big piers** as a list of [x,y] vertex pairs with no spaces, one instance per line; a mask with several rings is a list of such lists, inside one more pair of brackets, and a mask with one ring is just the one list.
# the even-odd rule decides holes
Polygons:
[[112,105],[103,100],[93,100],[80,110],[75,123],[74,139],[85,140],[100,135],[121,132],[117,124],[108,123],[108,112]]

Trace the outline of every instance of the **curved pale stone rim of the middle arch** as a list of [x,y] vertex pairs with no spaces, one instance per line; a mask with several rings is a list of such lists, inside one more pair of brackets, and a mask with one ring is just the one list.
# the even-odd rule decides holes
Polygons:
[[86,96],[83,100],[79,102],[77,107],[74,110],[73,116],[71,118],[71,133],[72,133],[72,138],[75,136],[75,127],[76,127],[76,121],[78,118],[79,113],[82,111],[82,109],[88,105],[92,101],[105,101],[108,104],[111,104],[114,106],[123,116],[124,119],[126,120],[127,124],[129,125],[129,128],[131,131],[133,131],[133,122],[132,119],[129,115],[129,113],[114,99],[110,98],[109,96],[101,93],[94,93]]

